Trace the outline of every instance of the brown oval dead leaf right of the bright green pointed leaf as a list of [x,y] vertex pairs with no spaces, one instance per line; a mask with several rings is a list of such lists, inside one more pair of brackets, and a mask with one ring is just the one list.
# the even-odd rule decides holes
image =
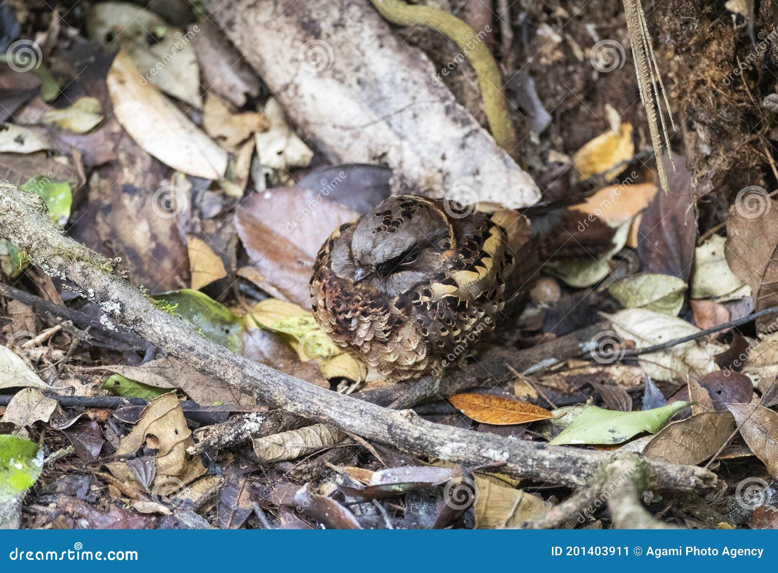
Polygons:
[[671,464],[696,465],[716,453],[734,431],[729,412],[704,412],[662,429],[643,455]]

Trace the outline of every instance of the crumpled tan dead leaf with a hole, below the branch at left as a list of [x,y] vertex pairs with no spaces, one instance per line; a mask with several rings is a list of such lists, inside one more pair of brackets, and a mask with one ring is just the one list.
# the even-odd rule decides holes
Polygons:
[[[194,445],[191,430],[187,428],[175,392],[155,398],[143,410],[143,414],[116,451],[117,456],[134,456],[143,446],[156,450],[156,488],[167,484],[187,484],[205,474],[205,466],[199,457],[191,458],[187,447]],[[111,474],[122,481],[137,481],[124,461],[107,464]]]

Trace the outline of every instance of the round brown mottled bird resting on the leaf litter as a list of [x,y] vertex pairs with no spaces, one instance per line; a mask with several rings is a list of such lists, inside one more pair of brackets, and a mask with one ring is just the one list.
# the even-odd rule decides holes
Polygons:
[[538,274],[530,221],[400,195],[332,232],[310,280],[314,318],[386,383],[462,366]]

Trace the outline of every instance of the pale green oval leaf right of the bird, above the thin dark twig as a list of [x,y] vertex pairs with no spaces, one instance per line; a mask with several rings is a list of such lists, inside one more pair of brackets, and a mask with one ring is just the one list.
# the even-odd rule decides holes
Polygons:
[[677,316],[683,306],[686,283],[677,276],[639,273],[608,289],[625,308],[645,308]]

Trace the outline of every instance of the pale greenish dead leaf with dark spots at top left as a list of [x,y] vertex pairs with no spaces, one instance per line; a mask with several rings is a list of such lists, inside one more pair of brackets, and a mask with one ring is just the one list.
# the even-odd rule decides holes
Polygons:
[[90,40],[108,50],[121,46],[145,83],[191,106],[202,106],[200,71],[190,43],[197,30],[184,33],[143,6],[99,2],[89,10],[86,31]]

